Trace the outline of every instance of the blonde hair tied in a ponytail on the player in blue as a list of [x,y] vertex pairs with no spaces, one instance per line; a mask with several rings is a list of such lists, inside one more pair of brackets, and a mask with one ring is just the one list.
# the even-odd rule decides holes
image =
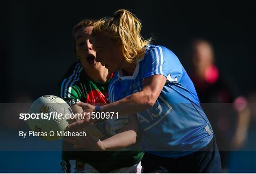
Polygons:
[[131,12],[119,9],[112,17],[104,17],[98,20],[93,27],[92,35],[107,32],[111,38],[121,41],[121,51],[126,61],[137,63],[146,51],[146,45],[151,38],[144,40],[140,35],[140,20]]

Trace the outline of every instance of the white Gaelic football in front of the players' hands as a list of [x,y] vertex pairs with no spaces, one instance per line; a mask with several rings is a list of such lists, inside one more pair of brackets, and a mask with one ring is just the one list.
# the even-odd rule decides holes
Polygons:
[[[32,113],[43,113],[44,115],[50,115],[51,119],[45,119],[41,116],[37,119],[28,119],[28,125],[30,129],[37,134],[39,133],[41,138],[45,140],[57,140],[63,138],[57,135],[57,131],[64,131],[68,122],[65,115],[70,115],[72,110],[70,106],[62,99],[57,96],[41,96],[39,97],[30,107],[29,114]],[[55,116],[62,113],[61,118]],[[51,134],[50,134],[50,131]],[[54,136],[52,136],[54,132]]]

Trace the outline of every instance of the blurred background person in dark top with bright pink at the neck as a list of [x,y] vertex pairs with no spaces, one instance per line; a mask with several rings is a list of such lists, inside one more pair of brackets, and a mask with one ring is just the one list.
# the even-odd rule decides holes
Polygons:
[[197,39],[192,42],[188,62],[189,75],[212,125],[222,167],[227,172],[228,151],[242,148],[247,139],[250,120],[247,99],[239,95],[237,86],[230,79],[221,75],[208,41]]

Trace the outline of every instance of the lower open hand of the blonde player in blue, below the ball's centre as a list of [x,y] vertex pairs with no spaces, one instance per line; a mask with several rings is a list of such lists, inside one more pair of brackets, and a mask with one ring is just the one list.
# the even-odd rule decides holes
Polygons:
[[[85,129],[83,129],[84,131]],[[100,139],[91,135],[90,132],[86,131],[86,137],[69,137],[65,138],[64,141],[72,143],[73,148],[87,148],[95,151],[105,150],[104,144]]]

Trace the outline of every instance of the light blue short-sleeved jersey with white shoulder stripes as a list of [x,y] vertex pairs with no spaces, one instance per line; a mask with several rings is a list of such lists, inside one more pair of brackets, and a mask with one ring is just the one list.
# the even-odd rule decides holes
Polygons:
[[176,55],[148,45],[132,76],[116,72],[109,86],[110,102],[141,91],[142,80],[161,74],[167,80],[154,106],[137,113],[145,135],[145,151],[162,157],[182,157],[205,147],[213,137],[194,85]]

